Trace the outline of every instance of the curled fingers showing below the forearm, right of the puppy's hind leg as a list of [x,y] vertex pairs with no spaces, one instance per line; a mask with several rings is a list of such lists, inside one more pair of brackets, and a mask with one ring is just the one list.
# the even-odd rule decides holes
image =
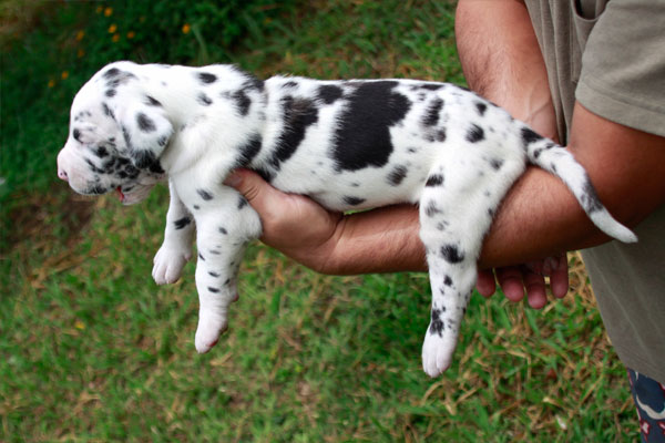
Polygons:
[[478,292],[488,298],[494,293],[497,281],[510,301],[524,298],[534,309],[541,309],[548,303],[545,276],[550,276],[550,289],[555,298],[563,298],[569,289],[567,259],[565,254],[534,260],[522,266],[508,266],[497,269],[478,271]]

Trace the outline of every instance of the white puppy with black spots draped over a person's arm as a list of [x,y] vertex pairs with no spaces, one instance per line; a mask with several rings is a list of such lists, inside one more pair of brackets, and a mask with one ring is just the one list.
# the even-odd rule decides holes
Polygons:
[[117,62],[76,94],[58,173],[78,193],[117,190],[124,204],[168,177],[171,206],[153,277],[157,284],[180,277],[196,225],[200,352],[226,328],[243,251],[262,230],[257,213],[223,185],[232,169],[252,168],[335,210],[419,204],[432,289],[422,364],[433,377],[451,362],[492,215],[528,162],[565,182],[606,234],[636,240],[565,148],[444,83],[263,82],[232,65]]

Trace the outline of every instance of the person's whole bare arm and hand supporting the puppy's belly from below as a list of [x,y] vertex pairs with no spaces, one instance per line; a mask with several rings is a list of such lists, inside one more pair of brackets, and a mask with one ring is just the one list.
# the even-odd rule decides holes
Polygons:
[[[627,226],[635,226],[665,203],[663,137],[610,122],[576,105],[569,150],[585,166],[601,200]],[[426,270],[413,206],[341,215],[307,197],[284,194],[249,171],[236,172],[227,184],[241,190],[262,215],[262,239],[309,268],[335,275]],[[607,240],[563,183],[530,168],[501,205],[479,267],[525,262]]]

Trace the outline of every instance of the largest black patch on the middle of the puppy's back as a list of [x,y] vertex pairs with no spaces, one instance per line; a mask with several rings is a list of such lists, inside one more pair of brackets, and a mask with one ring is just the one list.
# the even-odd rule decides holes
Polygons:
[[395,81],[349,82],[356,86],[349,104],[339,116],[332,157],[338,171],[381,167],[392,153],[390,126],[400,122],[411,103],[393,91]]

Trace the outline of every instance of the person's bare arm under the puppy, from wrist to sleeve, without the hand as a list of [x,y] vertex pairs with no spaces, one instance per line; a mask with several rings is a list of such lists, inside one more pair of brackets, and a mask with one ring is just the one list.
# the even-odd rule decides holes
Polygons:
[[[601,119],[577,105],[570,150],[610,212],[635,226],[665,203],[662,137]],[[640,146],[640,150],[626,150]],[[390,228],[395,227],[395,228]],[[334,237],[330,274],[424,269],[418,210],[397,206],[346,216]],[[529,168],[511,188],[487,236],[480,268],[494,268],[600,245],[610,238],[553,175]],[[400,268],[401,266],[401,268]]]

